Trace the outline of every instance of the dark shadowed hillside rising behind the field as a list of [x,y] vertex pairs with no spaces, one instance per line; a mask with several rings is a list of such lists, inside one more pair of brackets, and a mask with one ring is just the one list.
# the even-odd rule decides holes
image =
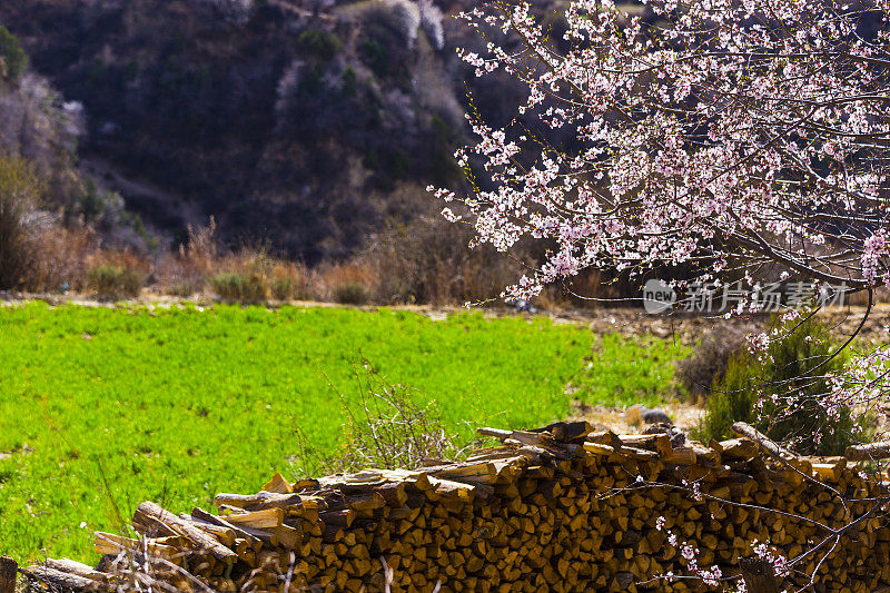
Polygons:
[[[457,186],[478,43],[456,6],[374,0],[7,0],[33,69],[85,107],[81,168],[175,244],[214,215],[231,245],[312,264]],[[488,113],[518,89],[469,81]]]

